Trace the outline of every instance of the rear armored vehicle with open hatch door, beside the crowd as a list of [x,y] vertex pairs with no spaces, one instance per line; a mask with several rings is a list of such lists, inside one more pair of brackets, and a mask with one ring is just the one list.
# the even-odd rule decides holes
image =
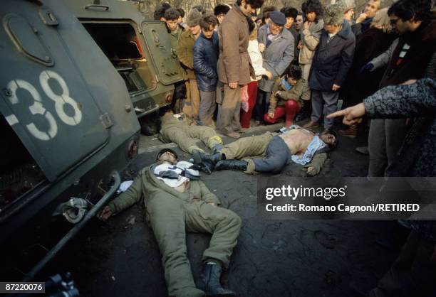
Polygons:
[[148,21],[130,1],[63,0],[81,21],[128,87],[142,133],[155,134],[160,107],[182,80],[162,21]]

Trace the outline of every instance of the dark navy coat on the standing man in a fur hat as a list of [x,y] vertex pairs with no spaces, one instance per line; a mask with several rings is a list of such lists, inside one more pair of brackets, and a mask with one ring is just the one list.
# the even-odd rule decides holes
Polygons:
[[346,79],[354,57],[355,37],[348,21],[342,23],[341,31],[330,42],[323,30],[313,56],[309,87],[321,92],[331,92],[333,84],[340,87]]

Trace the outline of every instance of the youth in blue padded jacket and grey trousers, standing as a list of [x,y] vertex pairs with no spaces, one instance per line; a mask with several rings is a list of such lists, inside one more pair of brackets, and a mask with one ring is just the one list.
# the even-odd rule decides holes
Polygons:
[[200,92],[199,124],[214,127],[217,100],[218,33],[214,31],[217,18],[204,14],[200,21],[202,34],[194,44],[194,71]]

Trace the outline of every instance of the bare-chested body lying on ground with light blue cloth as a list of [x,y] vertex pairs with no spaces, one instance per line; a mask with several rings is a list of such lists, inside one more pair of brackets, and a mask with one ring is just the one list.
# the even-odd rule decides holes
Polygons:
[[316,175],[336,143],[334,132],[318,135],[294,125],[282,134],[267,132],[239,139],[214,155],[202,156],[202,161],[215,170],[239,169],[249,174],[279,173],[294,161],[306,166],[308,175]]

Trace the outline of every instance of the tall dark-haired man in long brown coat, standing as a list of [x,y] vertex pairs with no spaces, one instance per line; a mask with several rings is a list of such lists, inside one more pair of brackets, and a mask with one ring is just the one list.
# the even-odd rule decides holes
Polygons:
[[217,127],[222,134],[239,138],[241,87],[249,84],[254,70],[247,52],[249,28],[246,17],[259,9],[264,0],[237,0],[219,26],[218,78],[224,84],[219,103]]

